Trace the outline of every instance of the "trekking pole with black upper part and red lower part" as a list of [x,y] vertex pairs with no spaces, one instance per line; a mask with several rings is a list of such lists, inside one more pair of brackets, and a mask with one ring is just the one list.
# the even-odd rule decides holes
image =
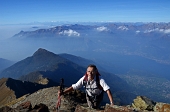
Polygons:
[[[64,79],[61,78],[61,82],[60,82],[60,93],[61,94],[63,93],[63,90],[64,90]],[[58,100],[57,100],[57,104],[56,104],[57,112],[60,109],[60,106],[61,106],[61,95],[58,96]]]

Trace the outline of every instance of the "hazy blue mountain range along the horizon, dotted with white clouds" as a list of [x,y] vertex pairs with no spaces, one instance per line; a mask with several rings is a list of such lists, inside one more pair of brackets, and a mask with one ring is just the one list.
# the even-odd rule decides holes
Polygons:
[[[108,33],[108,34],[118,34],[118,33],[131,33],[140,36],[151,36],[156,33],[157,36],[163,38],[169,38],[170,33],[170,23],[147,23],[141,25],[135,24],[115,24],[115,23],[105,23],[100,25],[62,25],[56,26],[49,29],[38,29],[35,31],[21,31],[20,33],[14,35],[15,38],[52,38],[52,37],[62,37],[62,36],[74,36],[83,37],[94,35],[97,33]],[[119,34],[120,35],[120,34]]]

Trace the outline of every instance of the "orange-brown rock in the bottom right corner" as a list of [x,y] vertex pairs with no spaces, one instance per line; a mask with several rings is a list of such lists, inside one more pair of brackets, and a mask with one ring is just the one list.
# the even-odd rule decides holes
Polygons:
[[170,112],[170,104],[156,103],[154,112]]

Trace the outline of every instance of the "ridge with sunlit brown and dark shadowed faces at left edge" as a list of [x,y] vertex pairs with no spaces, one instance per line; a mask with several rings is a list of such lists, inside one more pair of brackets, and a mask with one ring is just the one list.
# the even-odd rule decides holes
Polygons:
[[2,78],[0,79],[0,106],[45,87],[50,86],[15,80],[12,78]]

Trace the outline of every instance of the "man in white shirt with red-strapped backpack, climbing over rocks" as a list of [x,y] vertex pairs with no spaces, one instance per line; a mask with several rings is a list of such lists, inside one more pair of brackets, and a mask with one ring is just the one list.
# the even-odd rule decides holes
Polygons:
[[86,89],[86,99],[88,106],[91,108],[99,108],[101,101],[103,100],[103,91],[105,91],[109,97],[111,105],[113,105],[113,97],[110,91],[110,87],[105,83],[104,79],[99,78],[100,74],[95,65],[89,65],[87,67],[86,74],[71,87],[59,92],[58,95],[66,94],[73,90],[79,89],[82,86]]

